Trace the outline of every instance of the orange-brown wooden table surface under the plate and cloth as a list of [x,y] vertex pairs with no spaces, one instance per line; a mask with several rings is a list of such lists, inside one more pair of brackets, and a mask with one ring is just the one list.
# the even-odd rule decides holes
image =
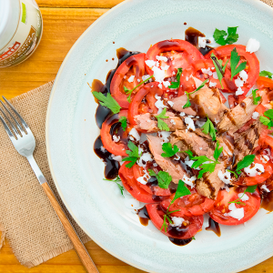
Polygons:
[[[44,35],[39,47],[25,63],[0,69],[0,93],[11,98],[54,80],[66,54],[76,39],[96,19],[122,0],[36,0],[44,19]],[[99,272],[143,272],[114,258],[94,242],[86,244]],[[27,249],[25,249],[27,251]],[[8,242],[0,250],[0,272],[3,273],[82,273],[86,272],[70,250],[35,267],[19,264]],[[243,271],[244,273],[273,272],[273,258]]]

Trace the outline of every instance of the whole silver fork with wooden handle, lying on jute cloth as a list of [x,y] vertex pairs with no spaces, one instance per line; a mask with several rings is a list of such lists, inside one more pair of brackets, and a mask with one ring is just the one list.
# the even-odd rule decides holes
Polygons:
[[[26,157],[30,166],[35,172],[35,176],[39,180],[41,186],[44,188],[46,196],[49,198],[52,207],[54,207],[57,216],[59,217],[61,223],[65,227],[66,233],[68,237],[71,239],[79,258],[81,259],[84,267],[86,268],[86,271],[92,273],[98,272],[84,244],[77,236],[74,227],[72,227],[70,221],[66,217],[64,210],[59,205],[56,196],[54,195],[52,189],[49,187],[44,175],[42,174],[40,168],[35,162],[35,158],[33,157],[33,152],[35,150],[35,137],[33,136],[29,126],[27,126],[23,117],[18,114],[18,112],[15,110],[15,107],[12,106],[7,101],[5,96],[2,97],[4,98],[5,103],[7,105],[5,106],[5,103],[2,100],[0,100],[1,105],[3,106],[3,108],[0,106],[0,119],[5,127],[5,132],[11,139],[17,152],[21,156]],[[9,110],[8,107],[11,110]],[[3,114],[4,117],[1,115],[1,113]],[[18,120],[16,119],[16,117]],[[7,122],[5,122],[5,120]]]

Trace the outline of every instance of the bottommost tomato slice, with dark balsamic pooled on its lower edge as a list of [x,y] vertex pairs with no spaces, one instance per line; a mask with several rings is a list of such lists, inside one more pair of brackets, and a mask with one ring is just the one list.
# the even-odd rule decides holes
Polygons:
[[[146,205],[147,213],[151,218],[151,221],[157,227],[161,229],[164,221],[164,212],[162,211],[159,204],[148,204]],[[185,221],[180,227],[171,227],[167,221],[167,232],[163,227],[160,231],[170,238],[187,239],[192,238],[202,228],[204,217],[183,217]]]

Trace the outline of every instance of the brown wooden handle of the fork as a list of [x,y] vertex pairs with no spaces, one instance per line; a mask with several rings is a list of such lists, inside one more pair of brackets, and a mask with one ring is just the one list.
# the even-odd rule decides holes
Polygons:
[[55,209],[57,216],[59,217],[61,223],[65,227],[66,233],[70,240],[73,243],[74,248],[76,249],[78,257],[81,259],[84,267],[86,268],[86,271],[88,273],[97,273],[98,270],[92,260],[92,258],[89,256],[84,244],[78,238],[76,231],[74,227],[72,227],[70,221],[66,217],[66,214],[60,204],[58,203],[55,194],[53,193],[52,189],[49,187],[49,185],[45,182],[42,184],[42,187],[45,190],[46,196],[49,198],[50,203],[52,207]]

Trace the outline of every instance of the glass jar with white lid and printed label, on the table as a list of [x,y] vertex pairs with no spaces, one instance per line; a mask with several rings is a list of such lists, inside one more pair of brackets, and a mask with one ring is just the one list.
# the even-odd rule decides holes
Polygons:
[[35,0],[0,0],[0,68],[25,61],[35,52],[42,33]]

